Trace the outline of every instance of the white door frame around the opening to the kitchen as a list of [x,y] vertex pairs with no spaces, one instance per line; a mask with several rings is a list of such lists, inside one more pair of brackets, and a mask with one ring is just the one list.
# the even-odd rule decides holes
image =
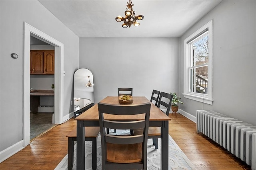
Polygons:
[[54,65],[54,123],[63,123],[63,43],[24,22],[24,94],[23,94],[23,139],[24,147],[30,143],[30,36],[36,37],[55,47]]

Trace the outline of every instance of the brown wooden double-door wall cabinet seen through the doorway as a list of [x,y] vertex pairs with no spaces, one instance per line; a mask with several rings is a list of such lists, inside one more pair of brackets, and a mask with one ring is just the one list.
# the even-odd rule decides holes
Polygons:
[[54,74],[54,50],[31,50],[30,74]]

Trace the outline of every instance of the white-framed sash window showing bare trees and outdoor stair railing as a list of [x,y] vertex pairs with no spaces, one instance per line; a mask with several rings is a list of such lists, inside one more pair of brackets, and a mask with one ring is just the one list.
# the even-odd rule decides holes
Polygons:
[[212,104],[212,21],[184,40],[183,94]]

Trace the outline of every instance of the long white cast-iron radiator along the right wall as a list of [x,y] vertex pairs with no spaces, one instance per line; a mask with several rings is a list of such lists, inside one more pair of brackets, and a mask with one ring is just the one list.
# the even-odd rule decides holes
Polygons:
[[211,110],[196,111],[196,131],[256,170],[256,126]]

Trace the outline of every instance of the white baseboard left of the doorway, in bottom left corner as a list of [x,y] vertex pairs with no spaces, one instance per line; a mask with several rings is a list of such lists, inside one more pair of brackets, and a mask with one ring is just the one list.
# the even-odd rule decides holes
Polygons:
[[15,143],[14,145],[2,150],[0,152],[0,163],[10,158],[10,156],[16,154],[20,150],[24,149],[24,140]]

